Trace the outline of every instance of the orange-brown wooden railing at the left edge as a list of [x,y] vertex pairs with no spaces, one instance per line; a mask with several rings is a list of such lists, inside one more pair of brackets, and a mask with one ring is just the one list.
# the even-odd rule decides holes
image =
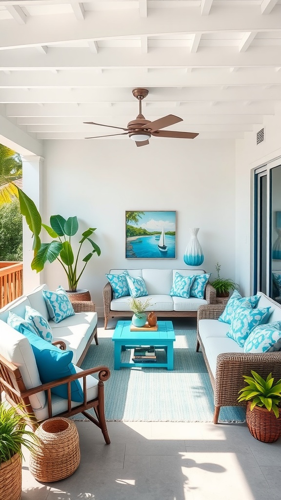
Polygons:
[[0,262],[0,308],[22,295],[22,262]]

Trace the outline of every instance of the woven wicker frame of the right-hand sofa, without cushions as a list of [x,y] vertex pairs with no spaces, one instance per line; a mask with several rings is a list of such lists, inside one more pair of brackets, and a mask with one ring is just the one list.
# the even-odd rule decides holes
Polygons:
[[[270,299],[269,299],[270,300]],[[274,302],[274,306],[279,306]],[[257,371],[261,376],[272,376],[279,380],[281,378],[281,351],[250,353],[250,352],[227,352],[218,354],[216,359],[215,378],[210,370],[203,342],[198,332],[200,319],[217,319],[222,313],[225,304],[200,305],[197,314],[197,345],[196,351],[201,348],[204,361],[210,376],[214,394],[213,423],[217,423],[221,406],[245,406],[246,401],[237,401],[238,391],[245,386],[242,375],[251,375],[250,370]],[[279,306],[280,307],[280,306]]]

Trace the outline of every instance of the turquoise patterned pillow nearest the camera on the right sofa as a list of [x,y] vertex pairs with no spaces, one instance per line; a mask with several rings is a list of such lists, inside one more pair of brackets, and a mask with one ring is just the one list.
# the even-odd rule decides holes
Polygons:
[[[244,343],[244,352],[268,352],[279,350],[281,339],[281,321],[260,324],[251,330]],[[278,348],[279,347],[279,348]]]

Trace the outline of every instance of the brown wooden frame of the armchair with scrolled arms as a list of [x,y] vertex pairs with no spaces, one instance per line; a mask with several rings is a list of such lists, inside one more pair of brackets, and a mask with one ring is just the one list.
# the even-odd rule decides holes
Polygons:
[[[86,376],[93,373],[98,373],[97,397],[87,400]],[[31,414],[31,417],[28,417],[28,424],[32,427],[33,430],[37,427],[40,421],[51,418],[52,416],[69,417],[81,412],[91,422],[93,422],[101,429],[106,444],[110,443],[110,439],[108,436],[104,416],[103,382],[107,380],[109,376],[110,371],[107,366],[96,366],[94,368],[82,370],[73,375],[60,378],[53,382],[48,382],[37,387],[26,389],[19,368],[0,355],[0,391],[5,392],[5,398],[12,406],[16,406],[18,404],[21,405],[21,410],[18,409],[18,411],[20,411],[22,414]],[[70,382],[75,379],[82,379],[84,399],[81,404],[73,403],[70,399]],[[53,414],[51,388],[63,383],[67,383],[67,409],[60,413],[55,412],[55,414]],[[37,418],[36,410],[34,410],[33,412],[30,404],[29,397],[32,394],[36,394],[40,391],[45,391],[46,394],[45,406],[47,407],[47,418]],[[93,417],[86,411],[89,408],[94,409],[95,417]]]

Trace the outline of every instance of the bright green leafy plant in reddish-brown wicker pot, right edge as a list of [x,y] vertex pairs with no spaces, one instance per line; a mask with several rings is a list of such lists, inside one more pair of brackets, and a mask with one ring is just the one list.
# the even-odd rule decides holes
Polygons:
[[273,442],[281,434],[281,379],[274,383],[272,374],[266,379],[256,371],[243,375],[248,385],[239,390],[238,401],[247,401],[246,422],[255,439]]

